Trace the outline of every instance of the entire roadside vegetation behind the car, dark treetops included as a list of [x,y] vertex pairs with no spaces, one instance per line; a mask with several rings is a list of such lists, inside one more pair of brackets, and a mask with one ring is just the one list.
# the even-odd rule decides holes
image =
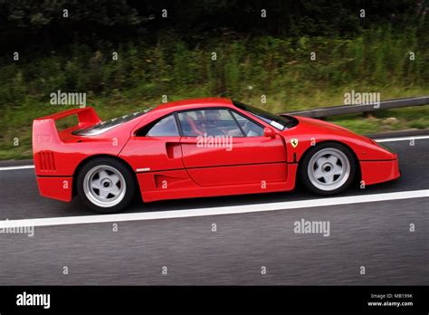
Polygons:
[[[103,119],[156,105],[163,95],[224,96],[283,112],[339,105],[352,90],[379,92],[382,100],[428,94],[422,1],[272,1],[266,19],[258,1],[185,3],[0,4],[8,41],[0,54],[0,159],[31,157],[32,120],[71,108],[50,104],[58,90],[86,92]],[[359,17],[362,7],[371,18]],[[62,18],[64,8],[70,18]],[[365,133],[427,128],[427,117],[420,107],[332,120]]]

